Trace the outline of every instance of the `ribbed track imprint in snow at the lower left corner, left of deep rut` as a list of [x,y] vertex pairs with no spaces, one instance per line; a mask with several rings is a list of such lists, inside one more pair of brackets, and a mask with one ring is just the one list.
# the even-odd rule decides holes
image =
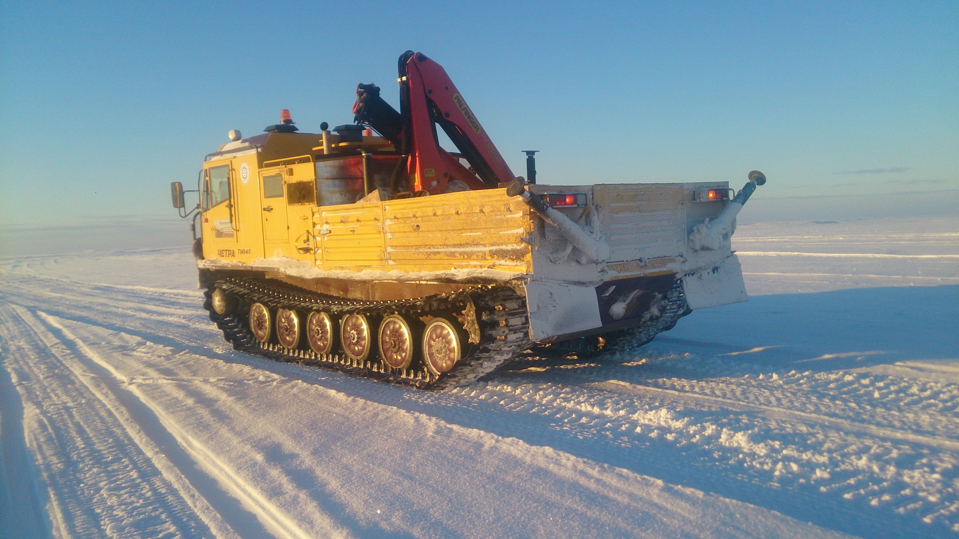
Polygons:
[[218,529],[215,522],[202,524],[189,489],[176,488],[182,481],[159,448],[137,439],[129,413],[71,361],[62,342],[23,308],[4,306],[0,316],[8,322],[4,330],[22,328],[15,337],[5,335],[16,346],[7,362],[24,399],[25,423],[33,425],[31,449],[58,536],[199,537]]

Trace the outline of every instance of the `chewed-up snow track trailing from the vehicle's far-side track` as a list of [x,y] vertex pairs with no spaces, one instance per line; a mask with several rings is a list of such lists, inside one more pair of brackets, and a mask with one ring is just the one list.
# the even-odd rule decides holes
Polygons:
[[[489,382],[522,384],[527,379],[535,383],[537,378],[545,377],[560,385],[584,386],[619,381],[622,389],[631,386],[651,387],[654,390],[663,388],[676,391],[677,395],[689,396],[690,402],[700,396],[704,399],[714,397],[713,404],[722,402],[725,408],[741,406],[745,407],[742,410],[760,410],[766,407],[769,409],[767,411],[796,411],[798,413],[792,416],[792,420],[798,423],[819,424],[819,418],[824,421],[835,420],[838,424],[847,421],[848,426],[860,425],[863,429],[871,430],[872,434],[877,434],[877,430],[888,430],[892,439],[905,440],[911,436],[913,441],[919,441],[929,438],[935,447],[950,450],[959,448],[951,445],[959,444],[959,439],[955,437],[929,435],[959,433],[959,390],[947,384],[912,382],[907,389],[899,388],[901,393],[898,394],[896,390],[890,390],[890,387],[896,387],[883,381],[884,377],[865,374],[838,371],[813,375],[808,371],[798,373],[793,370],[788,373],[767,372],[764,375],[762,369],[771,367],[760,367],[748,361],[699,358],[672,352],[664,354],[655,348],[646,349],[643,354],[642,361],[625,363],[609,357],[597,359],[599,363],[561,359],[532,361],[528,362],[532,365],[526,367],[530,372],[524,372],[522,368],[503,371]],[[661,359],[651,359],[660,354]],[[522,367],[523,363],[517,366]],[[562,374],[538,374],[549,370]],[[623,392],[612,386],[602,388],[613,393]],[[881,398],[880,390],[883,393]],[[876,396],[873,396],[874,393]],[[934,400],[938,406],[917,408],[910,401],[915,401],[920,395]],[[864,412],[868,412],[871,424],[863,422]],[[946,445],[939,444],[937,440],[944,440]]]

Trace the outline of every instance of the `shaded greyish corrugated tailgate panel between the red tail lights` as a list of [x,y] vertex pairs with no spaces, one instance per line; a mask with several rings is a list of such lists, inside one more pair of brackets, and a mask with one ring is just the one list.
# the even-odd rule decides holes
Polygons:
[[682,183],[596,185],[603,237],[610,260],[675,256],[682,251],[686,226],[680,203]]

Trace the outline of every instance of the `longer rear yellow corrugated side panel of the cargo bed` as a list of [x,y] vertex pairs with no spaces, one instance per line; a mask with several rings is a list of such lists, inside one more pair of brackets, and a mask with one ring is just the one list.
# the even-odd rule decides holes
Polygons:
[[529,210],[504,189],[468,191],[384,205],[389,269],[488,268],[528,271]]

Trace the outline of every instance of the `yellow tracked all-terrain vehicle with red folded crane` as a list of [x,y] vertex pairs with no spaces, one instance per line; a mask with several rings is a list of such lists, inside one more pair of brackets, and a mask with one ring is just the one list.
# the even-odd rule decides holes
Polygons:
[[625,349],[746,299],[730,238],[759,172],[735,198],[724,181],[537,184],[532,152],[514,176],[439,64],[404,53],[398,81],[399,111],[360,84],[355,124],[297,132],[284,110],[230,131],[195,212],[173,184],[237,349],[452,387],[533,346]]

